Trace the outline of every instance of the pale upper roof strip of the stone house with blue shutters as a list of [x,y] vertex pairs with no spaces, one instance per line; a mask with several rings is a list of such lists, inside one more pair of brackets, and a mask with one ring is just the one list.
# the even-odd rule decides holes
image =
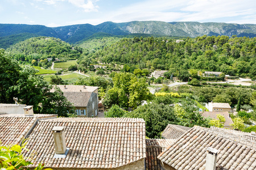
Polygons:
[[[96,86],[80,86],[80,85],[55,85],[63,92],[94,92],[98,89]],[[55,91],[54,87],[50,92]],[[66,87],[66,88],[65,88]]]

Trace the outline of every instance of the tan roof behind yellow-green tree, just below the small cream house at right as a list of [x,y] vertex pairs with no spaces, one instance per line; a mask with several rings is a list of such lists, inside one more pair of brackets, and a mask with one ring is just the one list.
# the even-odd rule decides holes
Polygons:
[[221,116],[224,116],[225,122],[224,122],[224,128],[233,129],[230,124],[233,124],[232,118],[230,117],[229,112],[203,112],[201,113],[203,117],[209,117],[213,119],[217,119],[217,114],[221,114]]

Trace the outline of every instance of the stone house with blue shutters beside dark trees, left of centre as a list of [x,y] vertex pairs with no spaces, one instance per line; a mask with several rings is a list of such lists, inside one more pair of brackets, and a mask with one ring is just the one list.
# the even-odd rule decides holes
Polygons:
[[[63,91],[63,95],[76,108],[79,117],[96,117],[98,115],[98,87],[56,85]],[[54,88],[50,92],[55,91]]]

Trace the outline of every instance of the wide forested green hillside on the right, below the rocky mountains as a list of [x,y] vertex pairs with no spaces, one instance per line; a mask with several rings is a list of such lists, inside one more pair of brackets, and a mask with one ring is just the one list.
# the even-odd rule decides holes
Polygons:
[[221,71],[250,78],[256,76],[256,37],[201,36],[177,43],[166,37],[121,39],[88,53],[83,59],[119,63],[131,68],[170,70],[181,79],[188,70]]

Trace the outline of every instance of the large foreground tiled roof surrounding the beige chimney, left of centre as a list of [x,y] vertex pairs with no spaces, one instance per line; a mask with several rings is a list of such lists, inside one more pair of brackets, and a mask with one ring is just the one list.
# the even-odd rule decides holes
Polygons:
[[[64,126],[66,158],[53,158],[53,126]],[[51,168],[117,168],[146,158],[145,122],[141,118],[54,118],[38,122],[24,156]]]

